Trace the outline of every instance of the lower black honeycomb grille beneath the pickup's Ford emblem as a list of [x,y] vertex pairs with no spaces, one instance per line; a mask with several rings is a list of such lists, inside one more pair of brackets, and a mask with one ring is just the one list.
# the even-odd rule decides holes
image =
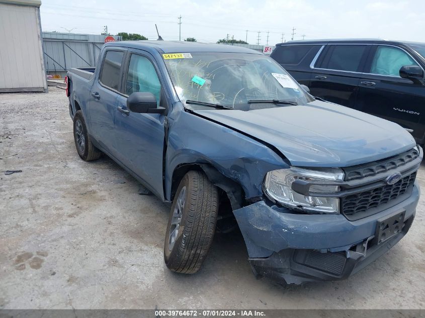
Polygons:
[[413,184],[415,177],[416,171],[394,184],[343,197],[341,198],[342,211],[345,215],[353,215],[394,200],[406,192],[409,186]]

